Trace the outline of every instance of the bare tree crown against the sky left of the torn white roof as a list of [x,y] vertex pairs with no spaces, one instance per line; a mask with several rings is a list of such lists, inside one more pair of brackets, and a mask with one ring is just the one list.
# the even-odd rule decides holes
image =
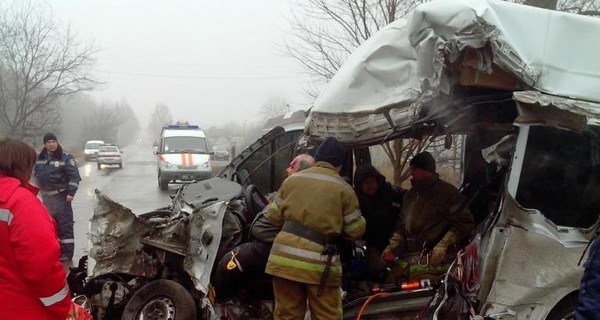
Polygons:
[[[346,58],[377,30],[404,16],[422,0],[297,0],[288,18],[287,55],[313,80],[327,82]],[[318,92],[308,88],[316,97]]]

